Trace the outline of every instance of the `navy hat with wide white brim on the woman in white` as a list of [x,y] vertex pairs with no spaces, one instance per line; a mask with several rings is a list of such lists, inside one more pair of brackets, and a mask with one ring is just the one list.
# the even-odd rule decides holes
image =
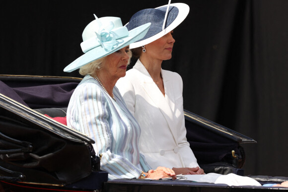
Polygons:
[[[167,7],[169,8],[168,10]],[[130,44],[130,49],[147,45],[166,35],[177,27],[188,13],[189,6],[185,3],[171,3],[157,8],[147,8],[138,11],[130,18],[129,23],[125,25],[128,30],[135,29],[148,22],[151,23],[151,26],[144,38]]]

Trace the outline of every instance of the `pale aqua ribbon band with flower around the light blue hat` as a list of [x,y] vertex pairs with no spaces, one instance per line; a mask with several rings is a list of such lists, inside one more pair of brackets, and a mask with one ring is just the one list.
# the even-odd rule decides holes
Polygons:
[[129,35],[127,27],[118,27],[112,30],[102,30],[100,33],[96,33],[96,36],[83,41],[80,46],[84,53],[94,49],[98,46],[102,46],[104,49],[110,51],[113,46],[117,44],[117,39],[126,37]]

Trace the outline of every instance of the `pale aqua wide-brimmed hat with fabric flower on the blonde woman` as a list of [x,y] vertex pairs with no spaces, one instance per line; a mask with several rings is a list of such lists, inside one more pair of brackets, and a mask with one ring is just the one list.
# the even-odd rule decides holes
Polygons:
[[[95,16],[95,15],[94,15]],[[112,54],[131,43],[142,39],[147,33],[150,23],[144,23],[128,30],[122,25],[119,17],[101,17],[90,22],[82,33],[80,44],[84,55],[64,68],[71,72],[92,61]]]

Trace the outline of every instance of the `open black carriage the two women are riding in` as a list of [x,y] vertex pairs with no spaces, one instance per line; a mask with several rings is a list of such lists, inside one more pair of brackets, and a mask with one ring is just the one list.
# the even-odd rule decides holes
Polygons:
[[[92,139],[68,128],[66,110],[80,78],[0,75],[0,191],[251,191],[267,187],[229,187],[183,180],[107,181]],[[241,144],[255,140],[184,112],[187,139],[206,173],[244,176]],[[252,176],[250,176],[252,177]],[[261,183],[284,177],[254,176]],[[283,188],[285,189],[285,188]],[[287,189],[288,190],[288,189]]]

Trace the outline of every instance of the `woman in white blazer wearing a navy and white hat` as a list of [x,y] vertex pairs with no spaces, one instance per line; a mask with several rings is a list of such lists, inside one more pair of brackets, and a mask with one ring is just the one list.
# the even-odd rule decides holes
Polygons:
[[130,45],[139,59],[116,84],[140,125],[140,150],[147,163],[173,168],[176,175],[204,174],[186,139],[182,78],[161,68],[162,61],[172,57],[173,29],[188,12],[187,4],[172,3],[135,13],[128,29],[148,22],[151,26],[144,38]]

